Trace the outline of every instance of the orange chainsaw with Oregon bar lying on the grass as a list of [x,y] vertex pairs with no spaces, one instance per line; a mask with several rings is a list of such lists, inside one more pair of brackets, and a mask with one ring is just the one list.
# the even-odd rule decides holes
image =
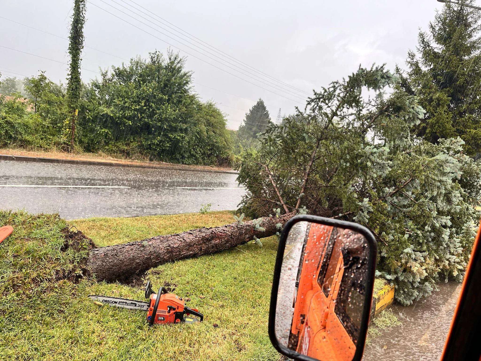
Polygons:
[[160,287],[159,292],[154,293],[150,281],[145,287],[145,298],[150,299],[149,302],[97,295],[90,295],[89,298],[103,305],[147,311],[147,322],[151,326],[154,323],[202,322],[204,319],[204,315],[198,309],[186,307],[182,297],[167,293],[164,287]]

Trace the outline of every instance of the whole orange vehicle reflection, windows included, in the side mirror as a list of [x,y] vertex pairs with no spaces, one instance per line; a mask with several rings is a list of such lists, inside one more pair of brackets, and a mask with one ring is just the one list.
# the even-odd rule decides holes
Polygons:
[[318,360],[353,359],[365,294],[363,243],[352,231],[310,225],[296,280],[289,348]]

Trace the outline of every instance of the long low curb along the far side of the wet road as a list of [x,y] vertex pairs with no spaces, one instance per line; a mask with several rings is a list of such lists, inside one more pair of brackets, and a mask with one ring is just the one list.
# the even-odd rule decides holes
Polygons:
[[238,172],[230,171],[230,170],[208,170],[208,169],[192,169],[192,168],[180,168],[180,167],[143,166],[143,165],[140,165],[140,164],[125,164],[125,163],[115,163],[115,162],[95,162],[95,161],[91,161],[91,160],[30,157],[30,156],[26,156],[26,155],[0,154],[0,160],[11,160],[11,161],[17,161],[17,162],[41,162],[41,163],[75,164],[75,165],[84,165],[84,166],[107,166],[107,167],[147,168],[147,169],[167,169],[167,170],[186,170],[186,171],[190,171],[190,172],[239,174]]

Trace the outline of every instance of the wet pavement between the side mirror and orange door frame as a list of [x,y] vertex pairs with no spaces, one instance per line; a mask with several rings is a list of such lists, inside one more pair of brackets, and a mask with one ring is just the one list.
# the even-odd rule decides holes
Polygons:
[[438,284],[439,291],[412,306],[394,305],[402,325],[384,330],[366,346],[363,361],[440,360],[461,284]]

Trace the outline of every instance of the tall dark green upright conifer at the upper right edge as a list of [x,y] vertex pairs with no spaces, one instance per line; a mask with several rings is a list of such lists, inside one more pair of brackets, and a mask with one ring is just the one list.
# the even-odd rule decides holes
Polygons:
[[431,143],[459,136],[471,156],[481,153],[480,16],[479,10],[446,4],[429,33],[419,33],[418,54],[408,53],[407,76],[397,69],[405,89],[418,95],[426,110],[418,135]]

